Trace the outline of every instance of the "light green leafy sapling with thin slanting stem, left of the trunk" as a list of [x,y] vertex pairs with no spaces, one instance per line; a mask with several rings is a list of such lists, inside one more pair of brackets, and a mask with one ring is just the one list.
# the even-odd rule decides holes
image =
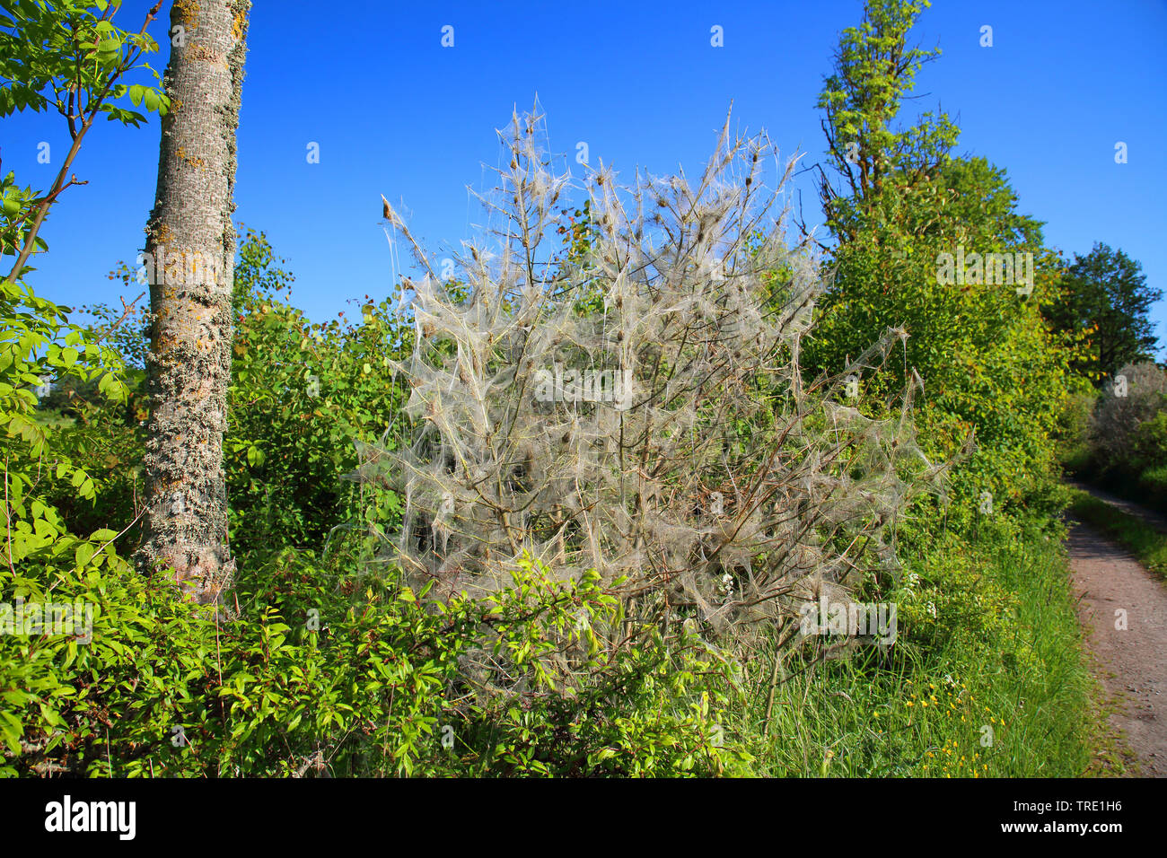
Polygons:
[[[116,27],[117,6],[22,0],[0,15],[0,116],[54,107],[65,118],[72,140],[47,194],[20,188],[12,173],[0,182],[0,254],[16,257],[0,285],[0,453],[9,572],[26,558],[72,550],[82,537],[69,532],[63,517],[69,510],[61,504],[92,503],[102,482],[96,472],[106,469],[97,462],[113,467],[109,456],[93,455],[90,442],[103,446],[100,432],[90,427],[74,432],[68,425],[39,419],[39,396],[83,390],[86,398],[117,409],[128,393],[117,351],[103,346],[100,336],[70,323],[68,308],[37,297],[22,279],[32,271],[26,266],[29,256],[46,249],[37,237],[41,223],[60,194],[76,182],[65,183],[65,176],[93,120],[105,113],[110,120],[137,126],[145,117],[116,104],[124,97],[134,106],[145,100],[148,110],[167,109],[156,90],[119,83],[137,68],[153,74],[138,60],[158,46],[145,35],[145,23],[138,34]],[[146,23],[149,20],[147,14]],[[112,461],[116,465],[117,458]]]

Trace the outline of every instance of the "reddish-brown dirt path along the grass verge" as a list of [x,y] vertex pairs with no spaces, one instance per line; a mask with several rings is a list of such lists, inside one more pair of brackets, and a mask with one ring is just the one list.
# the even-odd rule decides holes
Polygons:
[[[1140,774],[1167,777],[1167,587],[1086,524],[1075,522],[1067,544],[1078,619],[1098,662],[1098,678],[1121,704],[1110,723],[1123,731]],[[1125,629],[1119,611],[1125,612]]]

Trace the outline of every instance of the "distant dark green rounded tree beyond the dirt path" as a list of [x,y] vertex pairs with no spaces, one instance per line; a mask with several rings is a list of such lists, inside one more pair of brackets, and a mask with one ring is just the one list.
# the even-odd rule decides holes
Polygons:
[[1074,254],[1058,286],[1060,299],[1046,313],[1050,323],[1070,336],[1086,332],[1075,370],[1102,384],[1127,363],[1154,360],[1159,340],[1147,312],[1163,293],[1147,286],[1138,260],[1098,243]]

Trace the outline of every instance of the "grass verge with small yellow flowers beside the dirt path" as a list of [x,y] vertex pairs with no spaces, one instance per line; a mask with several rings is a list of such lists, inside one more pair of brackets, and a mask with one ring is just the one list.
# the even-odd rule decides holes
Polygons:
[[[787,665],[760,773],[1077,777],[1097,769],[1109,747],[1097,686],[1065,553],[1047,536],[948,538],[917,558],[918,578],[896,594],[899,636],[887,655],[871,648],[805,670],[805,657]],[[773,661],[754,662],[760,691],[742,728],[760,734],[769,685],[761,675]]]

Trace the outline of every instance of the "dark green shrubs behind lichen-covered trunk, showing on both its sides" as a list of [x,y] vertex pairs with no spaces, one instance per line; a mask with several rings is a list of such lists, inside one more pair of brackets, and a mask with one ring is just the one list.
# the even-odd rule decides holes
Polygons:
[[[393,493],[378,493],[373,501],[344,477],[357,467],[356,444],[382,439],[400,411],[399,385],[387,362],[408,353],[412,330],[387,301],[368,299],[359,321],[345,322],[341,314],[313,323],[292,306],[294,278],[280,265],[264,233],[240,235],[224,469],[229,538],[242,566],[282,547],[319,549],[334,529],[370,516],[391,526],[399,515]],[[133,285],[128,267],[111,274],[118,277]],[[120,314],[110,308],[96,305],[89,312],[95,323],[82,333],[91,342],[113,344],[128,367],[119,376],[128,399],[107,402],[96,381],[68,378],[42,398],[37,425],[58,426],[57,449],[88,462],[100,491],[78,497],[68,474],[63,480],[48,475],[42,490],[65,526],[77,532],[130,525],[120,543],[130,556],[140,536],[134,498],[141,493],[148,418],[144,374],[133,365],[148,349],[148,318],[134,313],[114,326]]]

